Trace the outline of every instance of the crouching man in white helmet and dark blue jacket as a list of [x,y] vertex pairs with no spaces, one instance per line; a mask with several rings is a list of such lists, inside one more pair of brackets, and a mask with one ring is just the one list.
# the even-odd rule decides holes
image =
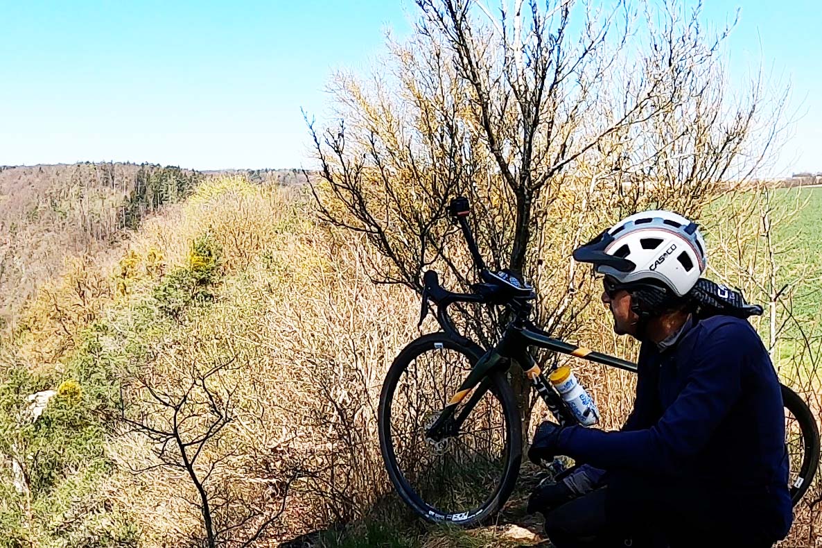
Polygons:
[[569,546],[772,546],[792,522],[784,411],[742,295],[700,278],[697,225],[627,217],[577,248],[603,274],[614,331],[641,341],[621,430],[543,422],[529,458],[583,462],[538,487],[530,511]]

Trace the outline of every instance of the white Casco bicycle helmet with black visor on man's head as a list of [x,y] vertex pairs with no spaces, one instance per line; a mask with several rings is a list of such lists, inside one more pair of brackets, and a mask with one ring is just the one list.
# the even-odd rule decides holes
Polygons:
[[705,267],[705,242],[696,223],[671,211],[641,211],[574,251],[601,274],[624,284],[655,280],[684,296]]

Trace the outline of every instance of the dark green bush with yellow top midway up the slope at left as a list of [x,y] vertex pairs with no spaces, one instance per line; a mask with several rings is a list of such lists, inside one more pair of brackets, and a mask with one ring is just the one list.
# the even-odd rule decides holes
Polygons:
[[165,276],[155,287],[154,297],[159,309],[172,318],[190,304],[205,303],[213,299],[210,291],[219,276],[222,249],[208,233],[192,242],[186,267],[178,268]]

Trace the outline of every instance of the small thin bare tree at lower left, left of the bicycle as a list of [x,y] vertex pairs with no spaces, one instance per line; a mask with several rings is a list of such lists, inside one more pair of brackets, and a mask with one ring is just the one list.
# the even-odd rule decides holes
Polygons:
[[[286,486],[279,493],[279,508],[272,510],[247,499],[246,489],[216,478],[241,456],[223,439],[235,420],[237,388],[230,383],[230,374],[237,368],[232,364],[233,360],[224,360],[205,370],[191,366],[178,378],[144,376],[126,388],[123,397],[123,423],[129,433],[150,440],[156,458],[154,464],[135,471],[184,472],[196,490],[196,499],[189,502],[201,513],[208,548],[252,546],[284,512],[288,495]],[[127,395],[136,400],[129,401]]]

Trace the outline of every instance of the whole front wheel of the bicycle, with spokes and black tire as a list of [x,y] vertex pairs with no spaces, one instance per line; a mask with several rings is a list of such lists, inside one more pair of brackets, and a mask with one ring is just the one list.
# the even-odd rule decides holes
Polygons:
[[432,333],[399,353],[382,385],[379,434],[388,475],[404,503],[430,522],[483,522],[506,503],[520,471],[520,416],[501,372],[462,400],[460,406],[476,405],[455,434],[427,439],[481,354],[479,346]]

